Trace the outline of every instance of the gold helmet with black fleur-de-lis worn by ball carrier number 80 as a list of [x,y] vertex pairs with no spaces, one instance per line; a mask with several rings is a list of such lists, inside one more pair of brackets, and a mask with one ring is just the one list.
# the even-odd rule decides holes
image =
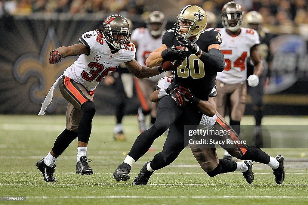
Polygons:
[[[181,35],[185,38],[196,36],[205,30],[206,27],[206,13],[205,11],[196,5],[185,6],[179,15],[177,15],[177,23],[174,24],[174,31],[176,35]],[[181,22],[188,23],[187,25],[181,25]],[[187,29],[186,33],[180,33],[180,29]]]

